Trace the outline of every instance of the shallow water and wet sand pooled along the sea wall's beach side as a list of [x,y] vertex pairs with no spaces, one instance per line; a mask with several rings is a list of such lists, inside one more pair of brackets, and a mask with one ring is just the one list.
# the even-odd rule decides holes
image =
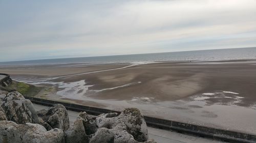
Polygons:
[[201,93],[175,101],[158,101],[152,97],[136,97],[131,100],[100,100],[89,98],[86,93],[102,92],[124,88],[141,82],[133,82],[109,89],[89,90],[93,85],[87,85],[86,80],[75,82],[53,82],[50,78],[16,78],[15,80],[32,84],[51,84],[58,87],[57,95],[61,98],[93,101],[104,104],[106,108],[122,110],[125,107],[137,107],[144,115],[186,122],[191,124],[216,127],[255,134],[256,103],[249,107],[239,106],[244,97],[232,91],[215,91]]

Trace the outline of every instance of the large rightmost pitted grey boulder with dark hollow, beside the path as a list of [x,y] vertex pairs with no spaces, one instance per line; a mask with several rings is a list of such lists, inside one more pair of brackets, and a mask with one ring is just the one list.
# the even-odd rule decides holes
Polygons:
[[[103,114],[96,118],[96,125],[99,128],[108,128],[115,135],[115,140],[131,141],[134,140],[143,142],[147,141],[146,122],[137,108],[126,108],[121,114],[114,118],[108,118],[109,114]],[[96,136],[97,137],[97,136]]]

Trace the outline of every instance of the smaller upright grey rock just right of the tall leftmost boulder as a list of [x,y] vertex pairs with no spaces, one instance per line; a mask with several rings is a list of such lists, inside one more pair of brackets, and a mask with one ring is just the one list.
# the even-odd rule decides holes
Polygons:
[[40,123],[47,129],[50,129],[47,127],[48,125],[52,128],[58,128],[63,131],[69,129],[68,111],[65,108],[65,106],[61,104],[55,104],[53,105],[53,107],[50,107],[47,111],[39,110],[37,111],[37,116],[44,121],[41,121]]

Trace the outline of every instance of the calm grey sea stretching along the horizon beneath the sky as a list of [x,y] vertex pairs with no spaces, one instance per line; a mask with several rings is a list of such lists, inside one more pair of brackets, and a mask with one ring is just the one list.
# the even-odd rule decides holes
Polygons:
[[89,64],[89,63],[137,63],[137,62],[158,62],[158,61],[224,61],[224,60],[243,60],[243,59],[256,60],[256,47],[2,62],[0,63],[0,65],[51,65],[51,64],[72,64],[72,63],[86,63],[86,64]]

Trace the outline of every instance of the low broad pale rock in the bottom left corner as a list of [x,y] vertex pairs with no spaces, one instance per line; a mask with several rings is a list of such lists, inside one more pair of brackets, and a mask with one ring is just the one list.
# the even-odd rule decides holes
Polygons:
[[64,133],[60,129],[47,131],[39,124],[16,124],[0,121],[0,142],[4,143],[62,143]]

